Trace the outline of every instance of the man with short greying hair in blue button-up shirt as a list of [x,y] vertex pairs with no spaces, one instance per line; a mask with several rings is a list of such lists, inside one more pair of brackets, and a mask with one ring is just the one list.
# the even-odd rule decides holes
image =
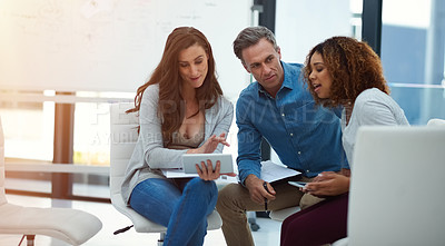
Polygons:
[[244,29],[234,41],[234,51],[257,81],[241,91],[236,106],[241,184],[227,185],[219,191],[217,209],[227,245],[248,246],[254,240],[247,210],[265,210],[265,200],[270,210],[305,208],[320,200],[287,183],[273,186],[261,179],[263,137],[283,164],[303,173],[303,181],[348,165],[339,118],[332,110],[315,106],[300,75],[303,66],[280,61],[280,49],[270,30]]

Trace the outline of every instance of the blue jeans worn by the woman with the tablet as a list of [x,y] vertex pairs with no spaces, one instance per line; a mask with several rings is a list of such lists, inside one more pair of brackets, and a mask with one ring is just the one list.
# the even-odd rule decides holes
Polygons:
[[131,193],[130,206],[144,217],[167,227],[165,246],[204,244],[207,216],[215,209],[215,181],[200,178],[150,178]]

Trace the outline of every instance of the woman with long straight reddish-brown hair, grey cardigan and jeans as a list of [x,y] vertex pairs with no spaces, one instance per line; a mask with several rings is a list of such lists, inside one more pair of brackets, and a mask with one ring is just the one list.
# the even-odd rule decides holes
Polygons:
[[[164,245],[202,245],[207,216],[218,198],[208,160],[199,177],[167,178],[161,169],[181,168],[187,154],[221,152],[234,117],[222,97],[210,43],[197,29],[176,28],[150,79],[138,88],[139,138],[122,183],[123,200],[167,227]],[[234,174],[231,174],[234,175]]]

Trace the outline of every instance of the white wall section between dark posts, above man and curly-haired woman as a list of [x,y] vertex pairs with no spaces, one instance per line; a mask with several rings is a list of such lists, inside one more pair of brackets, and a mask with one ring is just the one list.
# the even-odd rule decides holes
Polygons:
[[303,63],[326,38],[352,36],[349,0],[277,0],[276,37],[284,61]]

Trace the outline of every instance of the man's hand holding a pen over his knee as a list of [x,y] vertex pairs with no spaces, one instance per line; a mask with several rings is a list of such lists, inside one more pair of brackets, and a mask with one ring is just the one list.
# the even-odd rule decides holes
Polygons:
[[267,183],[267,191],[263,186],[264,180],[255,175],[247,176],[245,185],[250,194],[250,199],[257,204],[264,204],[265,199],[275,200],[276,191],[270,184]]

